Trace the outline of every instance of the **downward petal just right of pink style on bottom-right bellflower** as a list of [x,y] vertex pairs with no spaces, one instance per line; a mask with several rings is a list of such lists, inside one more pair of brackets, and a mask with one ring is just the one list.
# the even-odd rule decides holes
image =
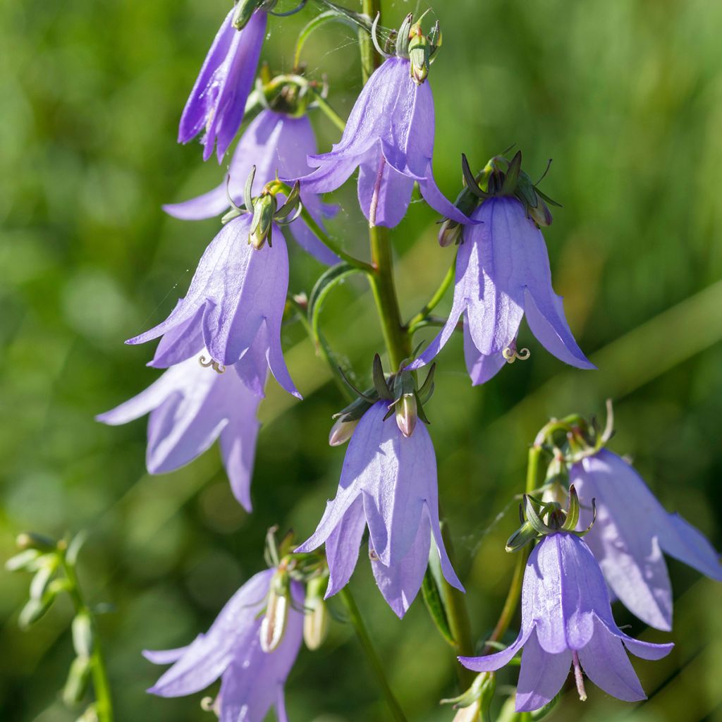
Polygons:
[[608,695],[625,702],[646,699],[625,648],[601,622],[588,645],[579,650],[579,661],[586,676]]

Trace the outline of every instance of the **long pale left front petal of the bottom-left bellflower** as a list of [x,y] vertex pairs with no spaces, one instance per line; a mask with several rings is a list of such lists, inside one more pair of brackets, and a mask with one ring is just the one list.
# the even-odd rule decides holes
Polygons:
[[148,691],[161,697],[199,692],[214,682],[232,661],[236,649],[256,638],[273,570],[251,577],[223,607],[208,634],[199,635],[175,664]]

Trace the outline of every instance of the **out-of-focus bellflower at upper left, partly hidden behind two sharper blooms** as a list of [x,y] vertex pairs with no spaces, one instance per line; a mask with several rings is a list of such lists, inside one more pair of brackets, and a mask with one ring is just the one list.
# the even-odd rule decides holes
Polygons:
[[[181,220],[219,216],[230,206],[228,196],[237,206],[250,202],[250,199],[244,198],[245,183],[254,167],[256,174],[252,195],[255,197],[277,175],[279,178],[297,178],[308,173],[306,156],[315,152],[316,136],[308,116],[292,118],[274,110],[261,110],[240,137],[233,152],[228,171],[230,180],[196,198],[165,205],[163,210]],[[301,189],[301,201],[316,222],[336,211],[334,206],[322,204],[316,193],[310,193],[305,188]],[[293,221],[290,230],[297,243],[321,263],[330,266],[339,262],[339,257],[316,238],[302,218]]]

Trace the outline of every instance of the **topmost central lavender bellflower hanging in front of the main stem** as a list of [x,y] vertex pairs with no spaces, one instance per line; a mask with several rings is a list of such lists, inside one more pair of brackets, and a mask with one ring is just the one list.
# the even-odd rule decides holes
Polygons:
[[414,82],[408,58],[388,58],[365,84],[340,142],[329,153],[308,157],[316,170],[301,186],[312,193],[334,191],[360,168],[359,201],[372,226],[401,222],[414,182],[441,215],[469,222],[436,186],[433,151],[431,88],[428,82]]

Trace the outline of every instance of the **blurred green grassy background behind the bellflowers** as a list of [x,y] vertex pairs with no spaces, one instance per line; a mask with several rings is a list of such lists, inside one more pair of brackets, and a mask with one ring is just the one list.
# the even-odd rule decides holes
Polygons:
[[[115,606],[101,625],[121,722],[209,719],[203,695],[146,695],[160,669],[140,650],[181,645],[204,630],[262,567],[272,523],[308,535],[344,455],[326,445],[342,401],[298,323],[284,331],[284,347],[305,401],[271,382],[253,516],[233,502],[217,448],[175,474],[149,477],[145,422],[113,429],[93,421],[157,377],[144,367],[152,347],[123,339],[165,318],[218,227],[171,219],[160,204],[222,176],[175,134],[227,8],[221,0],[0,3],[0,557],[25,529],[90,532],[82,581],[92,601]],[[386,1],[385,24],[414,9]],[[312,0],[302,14],[271,22],[264,57],[272,69],[290,69],[295,34],[313,12]],[[526,445],[549,415],[601,414],[614,398],[614,451],[631,454],[664,504],[722,547],[722,4],[444,0],[435,12],[444,32],[430,76],[438,183],[456,196],[461,152],[480,166],[516,143],[532,176],[554,158],[542,186],[564,204],[545,233],[554,285],[600,368],[565,367],[526,329],[531,360],[484,388],[469,386],[460,339],[440,357],[427,412],[482,640],[510,578],[503,541],[516,510],[493,521],[521,490]],[[347,113],[360,89],[352,32],[327,26],[305,54],[310,74],[328,74],[331,103]],[[318,112],[313,122],[327,149],[337,131]],[[365,253],[353,184],[339,197],[331,231]],[[407,316],[451,261],[434,223],[412,204],[393,233]],[[310,291],[321,268],[297,249],[292,264],[291,290]],[[366,373],[381,345],[366,288],[336,290],[324,325]],[[635,661],[648,703],[617,703],[590,685],[586,705],[568,694],[554,719],[722,720],[722,589],[676,562],[670,569],[677,647],[664,661]],[[58,701],[71,660],[69,605],[20,632],[27,583],[27,575],[2,573],[0,718],[72,721]],[[422,603],[399,622],[363,558],[352,589],[409,720],[451,720],[438,699],[455,692],[453,657]],[[622,608],[615,614],[635,635],[669,638]],[[295,721],[386,719],[347,625],[334,625],[318,653],[301,653],[287,697]]]

